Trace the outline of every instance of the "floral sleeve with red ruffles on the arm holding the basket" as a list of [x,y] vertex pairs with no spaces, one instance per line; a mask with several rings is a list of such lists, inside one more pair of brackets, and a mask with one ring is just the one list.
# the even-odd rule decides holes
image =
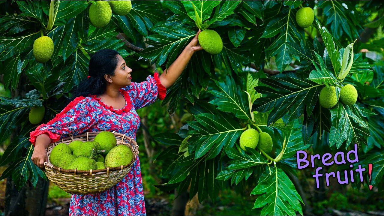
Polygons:
[[35,131],[30,132],[30,142],[35,146],[36,137],[46,133],[51,142],[60,140],[68,133],[77,135],[88,130],[98,119],[96,108],[89,99],[79,96],[69,103],[63,111],[46,124],[39,125]]

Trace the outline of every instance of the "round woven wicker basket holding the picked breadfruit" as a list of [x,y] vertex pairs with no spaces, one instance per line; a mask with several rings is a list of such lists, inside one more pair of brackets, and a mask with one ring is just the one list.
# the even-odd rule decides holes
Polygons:
[[[62,138],[59,143],[66,143],[67,145],[74,140],[81,141],[93,141],[96,135],[101,131],[87,132],[84,134],[73,136],[70,134],[68,138]],[[50,143],[46,148],[48,154],[48,163],[45,162],[45,173],[48,179],[56,184],[59,188],[63,189],[67,193],[73,194],[95,194],[106,191],[108,188],[113,187],[124,178],[131,170],[133,163],[136,161],[137,155],[139,155],[139,146],[132,138],[127,137],[124,134],[112,132],[117,140],[117,145],[129,146],[133,153],[132,161],[120,167],[113,167],[106,169],[97,169],[89,171],[80,171],[73,169],[63,169],[61,167],[53,166],[49,160],[49,155],[56,145],[59,143]]]

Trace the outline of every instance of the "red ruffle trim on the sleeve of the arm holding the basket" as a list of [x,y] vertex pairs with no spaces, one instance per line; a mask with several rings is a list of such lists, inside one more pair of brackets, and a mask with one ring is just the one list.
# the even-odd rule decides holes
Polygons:
[[41,135],[41,134],[43,134],[43,133],[47,133],[49,135],[49,137],[51,138],[51,142],[56,142],[56,141],[60,140],[60,135],[58,135],[57,133],[53,133],[53,132],[48,131],[48,130],[40,130],[40,128],[43,127],[43,126],[46,126],[46,125],[53,124],[56,120],[58,120],[61,116],[65,115],[73,106],[78,104],[79,101],[83,100],[84,98],[85,98],[84,96],[78,96],[73,101],[71,101],[63,109],[63,111],[61,111],[60,113],[56,114],[55,118],[53,118],[52,120],[48,121],[46,124],[39,125],[36,128],[35,131],[30,132],[30,137],[31,138],[29,139],[29,141],[33,144],[33,146],[35,146],[35,144],[36,144],[36,137]]

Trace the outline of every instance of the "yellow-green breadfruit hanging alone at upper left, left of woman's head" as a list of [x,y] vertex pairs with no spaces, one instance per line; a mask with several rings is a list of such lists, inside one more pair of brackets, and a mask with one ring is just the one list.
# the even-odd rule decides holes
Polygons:
[[53,40],[48,36],[41,36],[33,42],[33,56],[36,61],[46,63],[53,54]]

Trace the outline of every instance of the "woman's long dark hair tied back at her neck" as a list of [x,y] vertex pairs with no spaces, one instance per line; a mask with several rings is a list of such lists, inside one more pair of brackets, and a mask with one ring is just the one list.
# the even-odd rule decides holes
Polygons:
[[91,60],[89,60],[88,75],[90,77],[85,78],[85,80],[74,89],[68,103],[78,96],[87,97],[89,94],[103,94],[107,86],[104,75],[114,75],[119,61],[117,55],[119,55],[119,52],[111,49],[103,49],[94,53]]

